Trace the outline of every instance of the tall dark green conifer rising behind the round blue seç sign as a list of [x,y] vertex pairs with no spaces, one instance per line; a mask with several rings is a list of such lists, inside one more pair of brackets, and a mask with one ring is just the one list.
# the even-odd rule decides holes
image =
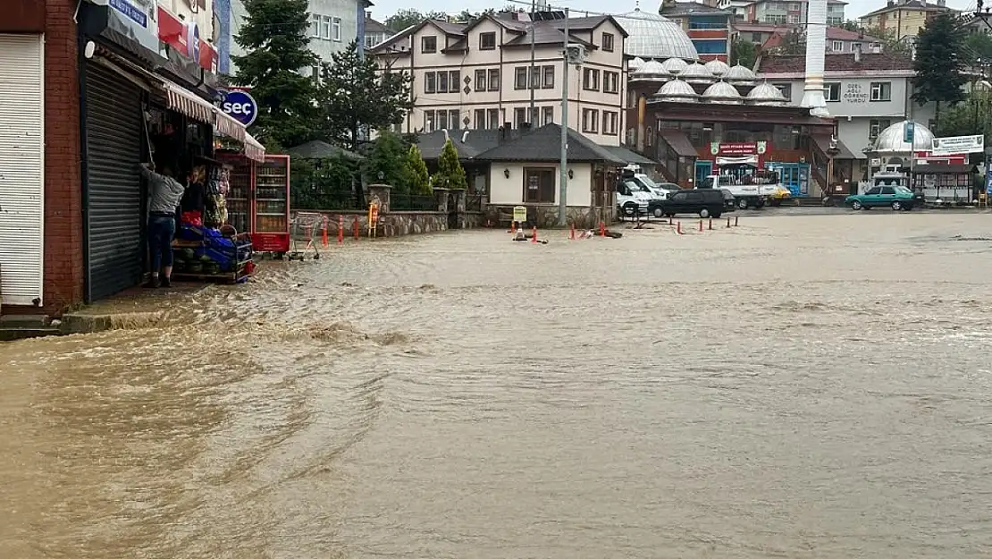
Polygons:
[[246,15],[234,40],[245,50],[232,57],[234,80],[251,87],[258,101],[255,134],[270,150],[311,139],[313,82],[298,70],[310,68],[307,0],[245,0]]

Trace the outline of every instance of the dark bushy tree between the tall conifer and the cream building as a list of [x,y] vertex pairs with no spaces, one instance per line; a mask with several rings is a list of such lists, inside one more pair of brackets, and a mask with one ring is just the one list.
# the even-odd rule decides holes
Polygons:
[[331,59],[324,65],[316,94],[318,137],[356,151],[365,130],[388,129],[403,122],[413,108],[410,74],[380,71],[375,58],[362,57],[355,42]]

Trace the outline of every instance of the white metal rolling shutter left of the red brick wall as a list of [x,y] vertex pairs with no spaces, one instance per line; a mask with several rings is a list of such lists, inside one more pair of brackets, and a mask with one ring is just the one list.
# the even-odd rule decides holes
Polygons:
[[41,304],[45,83],[41,35],[0,35],[0,294]]

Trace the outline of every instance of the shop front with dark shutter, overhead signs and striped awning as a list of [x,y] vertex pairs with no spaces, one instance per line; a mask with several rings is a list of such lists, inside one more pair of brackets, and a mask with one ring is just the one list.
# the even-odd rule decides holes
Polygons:
[[[198,35],[190,33],[184,40],[195,47],[186,52],[196,59],[184,60],[169,49],[160,54],[161,34],[149,26],[165,18],[154,3],[148,9],[157,17],[91,4],[80,14],[87,44],[80,63],[86,301],[138,285],[148,272],[148,193],[140,164],[168,167],[184,183],[195,178],[198,195],[186,205],[202,208],[207,179],[220,167],[212,159],[215,135],[250,143],[253,156],[264,157],[242,125],[204,98],[215,94],[205,84],[212,74],[204,77],[214,65],[211,51],[200,50]],[[201,53],[207,53],[202,62]],[[186,71],[190,67],[198,75]],[[177,75],[186,79],[171,78]]]

